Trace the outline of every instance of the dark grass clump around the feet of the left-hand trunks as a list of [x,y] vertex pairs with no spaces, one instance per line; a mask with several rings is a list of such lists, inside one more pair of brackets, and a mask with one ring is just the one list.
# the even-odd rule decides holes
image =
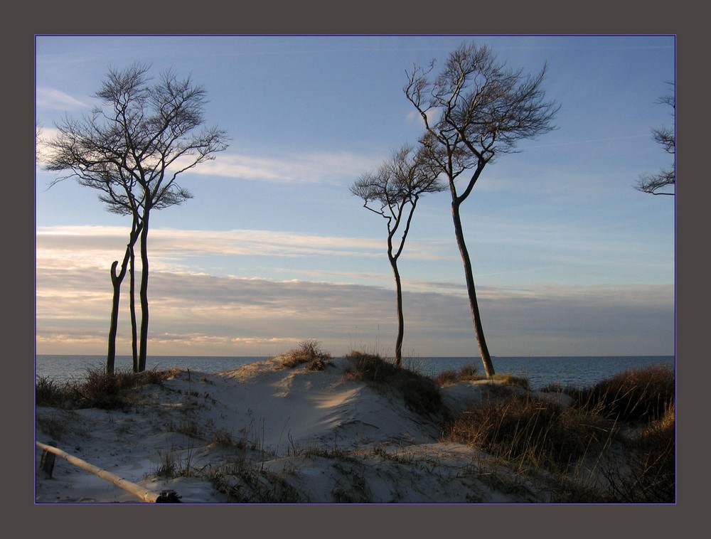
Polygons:
[[39,376],[35,384],[35,402],[38,406],[51,406],[76,410],[102,408],[114,410],[134,403],[131,390],[144,385],[162,383],[177,372],[149,370],[142,373],[114,371],[104,368],[87,368],[84,378],[72,378],[59,383]]

